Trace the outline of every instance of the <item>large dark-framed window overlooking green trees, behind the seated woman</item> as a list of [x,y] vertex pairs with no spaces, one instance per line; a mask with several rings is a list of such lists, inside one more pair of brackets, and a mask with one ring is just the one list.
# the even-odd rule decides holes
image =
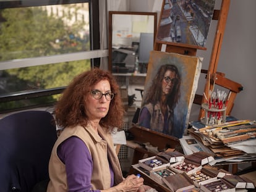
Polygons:
[[72,78],[98,66],[98,1],[0,7],[0,113],[54,104]]

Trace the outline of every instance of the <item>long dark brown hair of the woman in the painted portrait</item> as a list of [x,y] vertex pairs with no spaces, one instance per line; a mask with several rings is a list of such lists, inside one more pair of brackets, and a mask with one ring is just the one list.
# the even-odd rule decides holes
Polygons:
[[167,99],[167,104],[170,107],[170,109],[174,109],[180,96],[181,76],[179,74],[177,67],[171,64],[161,65],[160,69],[158,69],[158,72],[153,78],[152,85],[150,86],[150,89],[147,91],[147,95],[145,95],[145,99],[143,100],[142,106],[148,103],[151,103],[153,104],[153,106],[155,106],[155,104],[160,101],[164,73],[168,70],[175,72],[177,78],[177,81],[173,86],[173,90],[171,91]]

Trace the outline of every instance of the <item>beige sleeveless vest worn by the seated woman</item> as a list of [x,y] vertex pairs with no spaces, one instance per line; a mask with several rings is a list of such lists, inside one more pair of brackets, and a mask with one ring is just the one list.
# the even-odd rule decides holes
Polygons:
[[86,128],[81,126],[67,127],[62,131],[54,144],[49,160],[50,182],[47,192],[68,191],[65,164],[59,159],[57,148],[59,144],[70,136],[77,136],[83,140],[93,157],[92,190],[105,190],[110,187],[109,162],[111,162],[114,171],[114,185],[122,182],[122,171],[116,151],[114,150],[111,134],[106,133],[105,129],[101,127],[98,128],[98,131],[100,136],[90,125]]

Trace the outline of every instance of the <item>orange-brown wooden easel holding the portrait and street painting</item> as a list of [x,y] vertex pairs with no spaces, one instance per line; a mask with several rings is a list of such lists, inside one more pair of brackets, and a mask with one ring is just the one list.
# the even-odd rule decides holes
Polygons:
[[[217,0],[216,0],[217,1]],[[206,75],[206,82],[205,82],[205,89],[204,93],[208,97],[208,90],[213,89],[213,85],[219,85],[223,88],[228,89],[231,92],[228,106],[226,109],[226,115],[230,115],[232,108],[234,106],[234,99],[236,98],[236,94],[242,91],[242,85],[236,83],[235,81],[229,80],[225,77],[224,73],[217,72],[218,67],[218,59],[220,57],[220,50],[221,44],[223,41],[224,29],[226,26],[226,20],[228,17],[228,10],[229,10],[230,0],[222,0],[221,2],[221,9],[214,10],[213,12],[213,20],[218,20],[218,25],[216,27],[215,33],[215,40],[213,42],[213,48],[211,51],[211,58],[208,70],[201,70],[201,73],[205,73]],[[163,9],[163,8],[162,8]],[[154,44],[154,51],[164,51],[165,52],[176,52],[178,54],[184,54],[188,56],[195,56],[197,54],[197,48],[195,46],[190,46],[184,44],[163,44],[157,43],[155,41]],[[199,48],[199,47],[198,47]],[[200,48],[202,49],[202,48]],[[210,84],[208,83],[210,81]],[[214,83],[213,83],[214,82]],[[202,104],[206,102],[206,99],[202,95],[196,94],[194,103],[195,104]],[[200,120],[203,117],[204,111],[200,109],[200,113],[198,115],[198,119]],[[135,136],[135,140],[143,142],[153,142],[153,146],[157,146],[159,149],[163,149],[166,146],[162,146],[163,143],[169,143],[170,148],[178,148],[179,141],[176,138],[169,137],[166,135],[161,135],[161,133],[153,133],[151,130],[148,130],[143,127],[135,126],[130,129],[132,134]],[[153,133],[153,134],[152,134]],[[156,136],[157,135],[157,136]],[[142,159],[145,154],[152,156],[154,154],[150,154],[149,152],[141,149],[141,148],[134,148],[134,159],[132,161],[133,164],[137,163],[139,159]],[[130,169],[129,173],[134,173],[134,169]],[[151,182],[151,181],[150,181]],[[163,188],[158,188],[160,191],[165,191]]]

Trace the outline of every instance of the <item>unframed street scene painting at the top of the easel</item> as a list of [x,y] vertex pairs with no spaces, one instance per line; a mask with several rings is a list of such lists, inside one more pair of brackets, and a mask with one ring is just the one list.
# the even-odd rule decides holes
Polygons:
[[163,0],[156,43],[206,49],[215,0]]

